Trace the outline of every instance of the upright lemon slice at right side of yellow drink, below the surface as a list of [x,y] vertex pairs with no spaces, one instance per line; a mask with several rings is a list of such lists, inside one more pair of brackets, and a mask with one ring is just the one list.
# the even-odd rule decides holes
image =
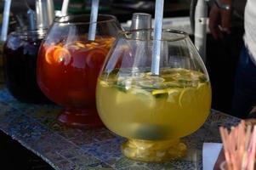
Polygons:
[[192,99],[195,98],[196,88],[185,88],[179,95],[179,106],[190,105]]

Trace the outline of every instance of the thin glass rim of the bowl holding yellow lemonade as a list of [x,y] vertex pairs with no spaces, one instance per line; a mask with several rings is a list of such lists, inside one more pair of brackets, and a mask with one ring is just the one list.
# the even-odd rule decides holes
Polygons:
[[[132,34],[133,32],[142,32],[142,31],[155,31],[154,29],[136,29],[136,30],[131,30],[131,31],[122,31],[119,33],[119,35],[122,35],[125,37],[127,40],[139,40],[139,41],[153,41],[153,39],[142,39],[142,38],[134,38],[134,37],[127,37],[127,34]],[[162,32],[168,32],[168,33],[174,33],[174,34],[179,34],[182,35],[183,37],[176,37],[176,38],[162,38],[159,41],[167,41],[167,42],[176,42],[183,40],[187,37],[189,37],[189,34],[186,33],[185,31],[179,31],[179,30],[174,30],[174,29],[162,29]]]

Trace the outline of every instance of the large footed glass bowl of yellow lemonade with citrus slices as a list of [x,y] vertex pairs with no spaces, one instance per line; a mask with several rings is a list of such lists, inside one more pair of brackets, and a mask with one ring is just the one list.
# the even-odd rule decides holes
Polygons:
[[185,156],[180,141],[206,121],[208,72],[185,32],[162,31],[159,74],[151,72],[153,30],[122,32],[98,78],[97,109],[112,132],[127,138],[122,153],[138,161]]

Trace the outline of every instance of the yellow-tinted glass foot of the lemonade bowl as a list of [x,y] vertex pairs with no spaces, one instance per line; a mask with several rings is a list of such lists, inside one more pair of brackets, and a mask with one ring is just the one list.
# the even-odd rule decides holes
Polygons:
[[122,144],[122,153],[136,161],[162,162],[179,159],[186,154],[186,145],[179,139],[150,141],[128,139]]

